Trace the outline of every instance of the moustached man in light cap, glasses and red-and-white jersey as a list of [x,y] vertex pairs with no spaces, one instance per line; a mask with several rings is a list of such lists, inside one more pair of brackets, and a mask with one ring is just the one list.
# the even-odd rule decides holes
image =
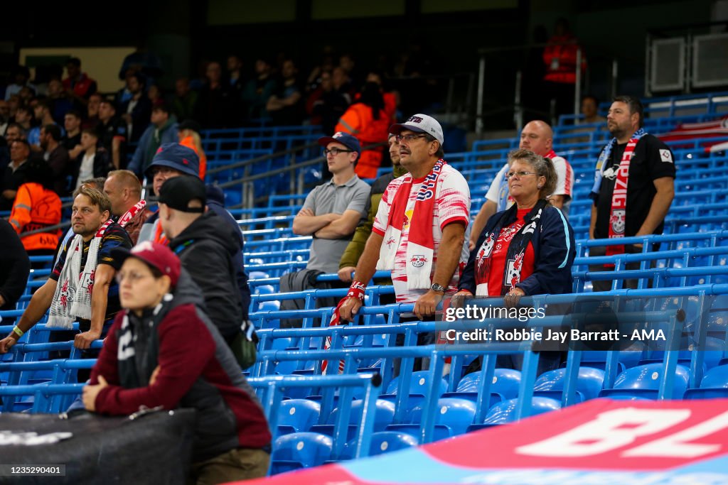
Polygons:
[[[446,292],[455,291],[456,270],[467,261],[463,243],[470,188],[443,160],[440,124],[416,114],[389,132],[397,135],[400,164],[409,173],[384,191],[349,294],[339,307],[344,320],[363,305],[364,288],[376,269],[392,270],[397,302],[414,303],[418,319],[432,318]],[[434,335],[422,337],[421,344],[434,341]]]

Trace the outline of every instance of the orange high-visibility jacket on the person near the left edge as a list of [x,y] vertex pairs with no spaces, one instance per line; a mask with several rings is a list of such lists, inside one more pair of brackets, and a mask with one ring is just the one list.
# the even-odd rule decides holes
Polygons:
[[[9,223],[18,234],[60,223],[61,203],[58,194],[35,182],[24,183],[17,189]],[[55,249],[60,231],[35,233],[20,238],[25,251]]]

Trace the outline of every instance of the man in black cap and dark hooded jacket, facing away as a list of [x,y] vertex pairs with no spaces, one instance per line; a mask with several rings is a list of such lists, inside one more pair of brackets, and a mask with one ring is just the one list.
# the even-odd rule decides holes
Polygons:
[[242,241],[222,217],[205,212],[206,203],[202,180],[173,177],[159,191],[159,220],[170,249],[202,289],[207,315],[231,345],[243,316],[232,262]]

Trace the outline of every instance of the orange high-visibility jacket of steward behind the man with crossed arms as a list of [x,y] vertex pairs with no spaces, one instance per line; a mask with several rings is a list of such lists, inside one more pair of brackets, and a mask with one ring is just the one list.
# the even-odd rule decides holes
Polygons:
[[[371,108],[364,103],[355,103],[339,119],[336,132],[354,135],[362,147],[387,141],[392,119],[384,110],[379,111],[379,119],[374,119]],[[376,178],[376,171],[381,165],[383,147],[365,150],[359,157],[355,172],[361,178]]]

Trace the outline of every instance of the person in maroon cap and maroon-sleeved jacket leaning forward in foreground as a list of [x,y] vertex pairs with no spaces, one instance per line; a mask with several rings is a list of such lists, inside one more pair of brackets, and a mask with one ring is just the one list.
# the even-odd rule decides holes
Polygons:
[[117,249],[114,261],[123,310],[84,387],[85,408],[115,416],[194,408],[188,483],[265,476],[272,436],[263,408],[180,259],[145,242]]

